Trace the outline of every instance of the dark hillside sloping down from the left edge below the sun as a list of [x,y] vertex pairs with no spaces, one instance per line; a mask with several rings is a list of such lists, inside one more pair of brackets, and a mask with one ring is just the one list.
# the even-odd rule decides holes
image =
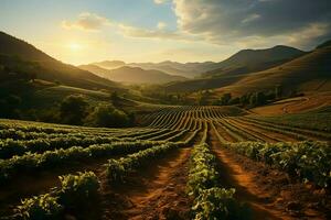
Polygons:
[[33,45],[0,32],[0,78],[33,74],[38,79],[86,89],[111,89],[119,85],[75,66],[63,64]]

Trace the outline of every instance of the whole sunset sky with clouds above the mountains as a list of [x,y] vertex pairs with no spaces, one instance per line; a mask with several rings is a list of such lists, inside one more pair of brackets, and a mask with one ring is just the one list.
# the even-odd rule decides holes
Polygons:
[[220,62],[331,38],[331,0],[0,0],[0,31],[74,65]]

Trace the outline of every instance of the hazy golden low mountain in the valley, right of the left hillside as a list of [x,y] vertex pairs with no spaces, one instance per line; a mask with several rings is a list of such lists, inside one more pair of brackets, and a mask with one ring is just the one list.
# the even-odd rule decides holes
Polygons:
[[116,69],[104,69],[96,65],[82,65],[79,68],[92,72],[100,77],[126,84],[166,84],[186,79],[182,76],[173,76],[160,70],[146,70],[130,66],[122,66]]

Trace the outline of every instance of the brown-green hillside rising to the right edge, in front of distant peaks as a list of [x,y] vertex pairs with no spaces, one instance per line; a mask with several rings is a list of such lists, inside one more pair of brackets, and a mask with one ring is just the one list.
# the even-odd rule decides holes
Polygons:
[[247,94],[268,90],[281,85],[290,91],[331,90],[331,46],[327,45],[280,66],[246,75],[239,80],[220,88],[218,91]]

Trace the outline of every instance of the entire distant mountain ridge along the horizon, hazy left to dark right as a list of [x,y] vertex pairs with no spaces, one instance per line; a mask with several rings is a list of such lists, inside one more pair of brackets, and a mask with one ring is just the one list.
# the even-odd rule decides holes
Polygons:
[[186,78],[215,77],[222,74],[247,74],[257,70],[264,70],[292,58],[301,56],[305,52],[278,45],[266,50],[243,50],[223,62],[203,62],[203,63],[128,63],[119,61],[105,61],[93,63],[103,68],[114,69],[120,66],[140,67],[142,69],[156,69],[170,75],[184,76]]

